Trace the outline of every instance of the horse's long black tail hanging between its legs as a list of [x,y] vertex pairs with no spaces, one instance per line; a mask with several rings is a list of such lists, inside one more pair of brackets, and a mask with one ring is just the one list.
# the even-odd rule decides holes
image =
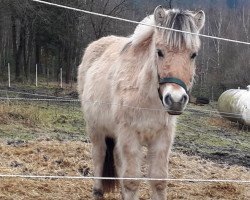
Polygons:
[[[117,177],[115,161],[114,161],[114,148],[115,140],[110,137],[105,138],[106,142],[106,155],[103,164],[102,177]],[[117,180],[102,180],[103,191],[105,193],[113,192],[118,186]]]

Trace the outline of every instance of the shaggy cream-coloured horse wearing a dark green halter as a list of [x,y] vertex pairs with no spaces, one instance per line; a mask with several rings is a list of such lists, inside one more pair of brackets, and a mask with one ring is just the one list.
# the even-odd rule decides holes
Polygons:
[[94,180],[94,199],[104,199],[120,183],[124,200],[138,200],[140,181],[127,178],[142,177],[144,147],[147,177],[158,178],[149,181],[151,198],[166,199],[166,181],[159,178],[168,177],[176,119],[189,100],[204,22],[202,10],[158,6],[132,35],[106,36],[85,49],[77,88],[94,176],[102,177]]

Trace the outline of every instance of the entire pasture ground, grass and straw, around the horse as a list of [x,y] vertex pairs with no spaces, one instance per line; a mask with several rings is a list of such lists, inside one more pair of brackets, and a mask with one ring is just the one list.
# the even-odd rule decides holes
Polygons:
[[[216,103],[189,105],[179,117],[170,178],[250,179],[249,131],[220,118],[215,108]],[[92,176],[91,148],[79,102],[1,101],[1,174]],[[1,178],[0,199],[91,199],[92,185],[92,180]],[[168,199],[176,200],[250,198],[249,184],[169,182],[167,191]],[[141,184],[140,199],[149,194]],[[119,197],[116,192],[107,199]]]

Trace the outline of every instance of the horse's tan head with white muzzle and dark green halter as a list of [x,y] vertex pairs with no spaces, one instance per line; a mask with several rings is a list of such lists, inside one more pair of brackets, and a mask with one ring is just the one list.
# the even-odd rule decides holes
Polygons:
[[[204,26],[203,11],[165,10],[154,12],[155,25],[199,33]],[[200,48],[198,35],[155,28],[153,34],[155,63],[159,76],[159,95],[169,114],[185,109],[195,74],[195,58]]]

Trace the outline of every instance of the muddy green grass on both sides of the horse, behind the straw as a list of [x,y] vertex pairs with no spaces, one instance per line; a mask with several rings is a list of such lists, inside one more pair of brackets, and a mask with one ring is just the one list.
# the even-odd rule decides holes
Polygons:
[[[250,167],[250,135],[219,116],[189,105],[177,123],[174,149],[191,155]],[[86,140],[79,102],[4,101],[0,104],[3,140]],[[219,156],[221,155],[221,156]]]

